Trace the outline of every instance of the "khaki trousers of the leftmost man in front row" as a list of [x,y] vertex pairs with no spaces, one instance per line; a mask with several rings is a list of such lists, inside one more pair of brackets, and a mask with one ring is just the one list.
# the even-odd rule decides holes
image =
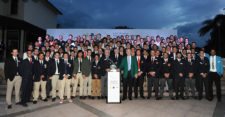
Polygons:
[[7,89],[6,89],[6,103],[8,105],[12,104],[12,91],[13,87],[15,88],[15,102],[20,102],[20,87],[22,83],[21,76],[15,76],[13,81],[7,80]]

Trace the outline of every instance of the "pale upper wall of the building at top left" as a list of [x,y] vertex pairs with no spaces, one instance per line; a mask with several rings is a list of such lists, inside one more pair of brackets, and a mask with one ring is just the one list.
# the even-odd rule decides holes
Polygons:
[[24,3],[24,20],[43,29],[56,28],[57,15],[41,0],[28,0]]

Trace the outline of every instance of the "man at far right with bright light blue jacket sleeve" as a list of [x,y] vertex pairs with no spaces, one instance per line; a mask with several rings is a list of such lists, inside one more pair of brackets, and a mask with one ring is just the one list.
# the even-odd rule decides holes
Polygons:
[[221,102],[221,84],[220,79],[223,76],[223,63],[221,57],[216,55],[216,50],[211,49],[209,56],[209,99],[213,100],[213,82],[216,85],[216,95],[218,102]]

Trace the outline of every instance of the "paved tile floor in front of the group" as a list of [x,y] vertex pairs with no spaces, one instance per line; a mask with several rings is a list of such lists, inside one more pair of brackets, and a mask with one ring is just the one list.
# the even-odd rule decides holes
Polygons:
[[73,103],[59,104],[57,102],[29,103],[28,108],[13,105],[6,109],[0,100],[0,116],[19,117],[212,117],[216,100],[132,100],[121,104],[106,104],[105,100],[75,99]]

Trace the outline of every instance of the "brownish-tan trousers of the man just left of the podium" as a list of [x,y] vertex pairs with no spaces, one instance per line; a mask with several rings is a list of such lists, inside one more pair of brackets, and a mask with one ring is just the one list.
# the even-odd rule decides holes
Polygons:
[[101,80],[92,79],[92,96],[101,96]]

